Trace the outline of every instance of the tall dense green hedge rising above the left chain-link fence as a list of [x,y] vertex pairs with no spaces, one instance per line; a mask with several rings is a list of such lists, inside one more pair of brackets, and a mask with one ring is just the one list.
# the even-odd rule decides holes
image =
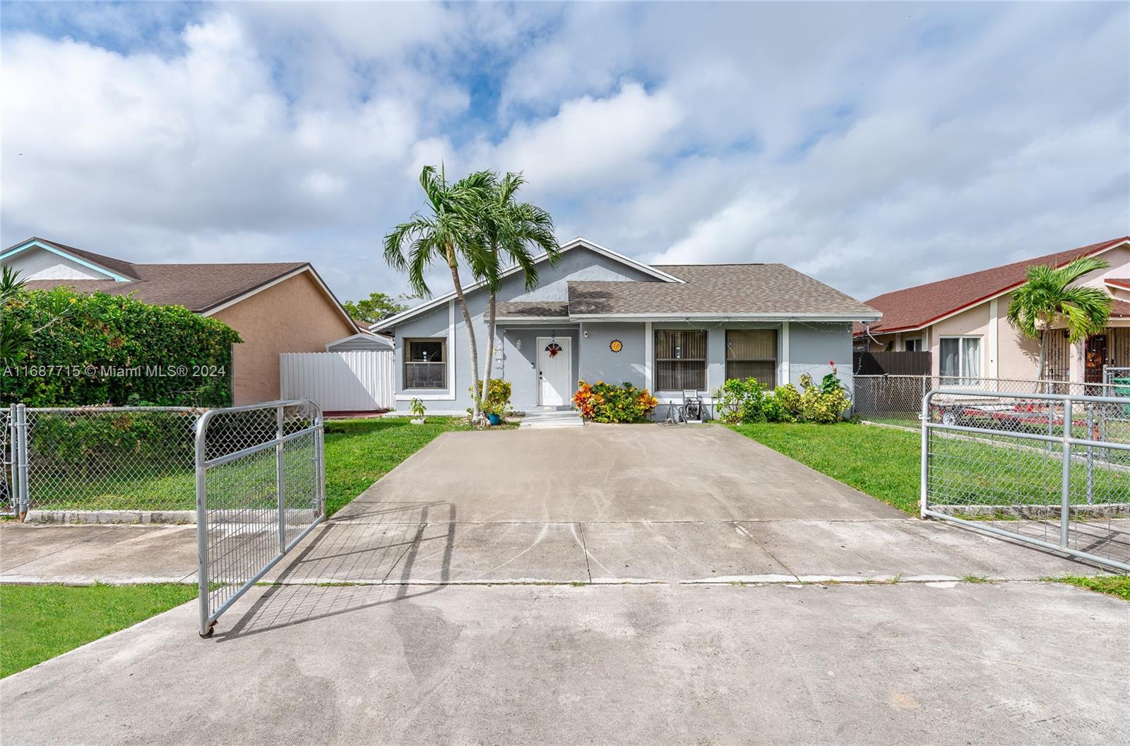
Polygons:
[[26,353],[0,370],[0,403],[223,406],[231,402],[232,345],[240,335],[183,306],[55,288],[20,292],[2,313],[38,331]]

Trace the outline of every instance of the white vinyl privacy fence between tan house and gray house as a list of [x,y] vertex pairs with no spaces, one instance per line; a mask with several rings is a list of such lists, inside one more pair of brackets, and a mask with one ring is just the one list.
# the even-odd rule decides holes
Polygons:
[[285,400],[308,398],[323,412],[391,410],[395,352],[284,352],[279,383]]

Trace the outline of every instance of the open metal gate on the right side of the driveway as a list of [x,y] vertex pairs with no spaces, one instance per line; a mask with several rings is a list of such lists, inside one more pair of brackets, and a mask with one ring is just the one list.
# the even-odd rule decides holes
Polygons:
[[922,515],[1130,571],[1130,397],[940,388]]

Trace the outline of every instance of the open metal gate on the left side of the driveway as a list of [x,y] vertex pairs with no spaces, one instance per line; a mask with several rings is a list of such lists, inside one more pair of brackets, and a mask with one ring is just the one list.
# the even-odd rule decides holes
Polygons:
[[197,423],[200,635],[325,518],[322,412],[308,400],[209,410]]

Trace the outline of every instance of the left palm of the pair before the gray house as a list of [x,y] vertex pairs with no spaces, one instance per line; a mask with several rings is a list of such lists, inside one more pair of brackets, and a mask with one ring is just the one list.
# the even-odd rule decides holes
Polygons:
[[449,184],[442,166],[438,174],[434,166],[425,166],[420,172],[420,186],[424,187],[429,213],[425,216],[414,212],[407,222],[400,223],[384,237],[384,261],[395,270],[408,272],[408,283],[417,296],[432,295],[424,274],[434,262],[442,261],[451,270],[471,351],[471,377],[475,386],[471,389],[472,421],[479,419],[479,353],[467,296],[459,278],[459,260],[467,262],[475,277],[490,278],[498,274],[496,257],[484,248],[483,236],[476,222],[476,214],[488,201],[493,182],[494,175],[489,172],[476,172]]

